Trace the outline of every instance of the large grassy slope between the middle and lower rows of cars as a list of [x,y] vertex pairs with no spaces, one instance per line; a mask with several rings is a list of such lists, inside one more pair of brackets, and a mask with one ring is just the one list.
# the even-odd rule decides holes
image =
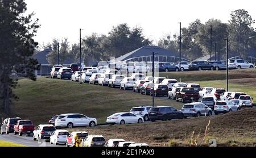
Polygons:
[[[105,123],[106,117],[131,107],[152,105],[152,97],[131,91],[98,85],[80,85],[78,82],[39,77],[37,81],[19,80],[14,90],[19,101],[12,106],[14,116],[31,119],[35,124],[47,123],[52,115],[81,113]],[[182,104],[156,98],[156,105],[171,105],[178,109]]]

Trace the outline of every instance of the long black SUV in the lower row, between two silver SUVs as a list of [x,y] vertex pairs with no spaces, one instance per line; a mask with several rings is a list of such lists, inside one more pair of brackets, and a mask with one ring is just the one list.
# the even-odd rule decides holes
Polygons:
[[148,112],[148,118],[154,122],[155,120],[171,120],[171,119],[183,119],[184,115],[182,111],[175,109],[171,106],[157,106],[151,107]]

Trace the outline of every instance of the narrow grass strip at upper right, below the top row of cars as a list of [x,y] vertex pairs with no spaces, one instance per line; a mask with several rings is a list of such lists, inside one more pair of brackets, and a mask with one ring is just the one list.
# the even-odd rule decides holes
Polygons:
[[[188,72],[160,72],[160,77],[174,78],[177,81],[213,81],[225,80],[226,70],[204,70],[204,71],[188,71]],[[256,69],[240,69],[229,70],[229,78],[256,78]]]

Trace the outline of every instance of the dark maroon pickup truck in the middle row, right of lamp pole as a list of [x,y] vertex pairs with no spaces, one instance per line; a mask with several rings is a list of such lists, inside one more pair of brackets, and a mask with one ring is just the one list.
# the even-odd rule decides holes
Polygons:
[[199,93],[194,88],[180,88],[179,92],[176,92],[176,101],[199,101]]

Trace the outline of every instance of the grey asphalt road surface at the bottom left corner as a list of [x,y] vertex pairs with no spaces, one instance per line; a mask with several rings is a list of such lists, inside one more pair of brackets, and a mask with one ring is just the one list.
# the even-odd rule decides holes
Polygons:
[[45,141],[42,141],[42,142],[34,141],[32,136],[26,136],[26,135],[19,136],[19,135],[14,135],[13,133],[9,135],[6,135],[6,134],[0,135],[0,140],[26,145],[28,147],[65,147],[65,145],[62,145],[62,144],[54,145]]

